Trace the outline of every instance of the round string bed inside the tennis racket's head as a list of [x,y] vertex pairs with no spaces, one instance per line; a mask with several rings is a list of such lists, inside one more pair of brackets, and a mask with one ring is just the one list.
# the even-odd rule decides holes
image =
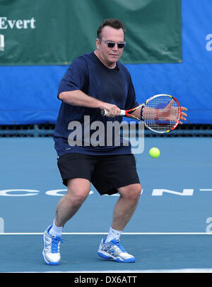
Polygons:
[[146,103],[142,115],[148,128],[163,132],[176,126],[180,109],[175,99],[171,97],[155,97]]

